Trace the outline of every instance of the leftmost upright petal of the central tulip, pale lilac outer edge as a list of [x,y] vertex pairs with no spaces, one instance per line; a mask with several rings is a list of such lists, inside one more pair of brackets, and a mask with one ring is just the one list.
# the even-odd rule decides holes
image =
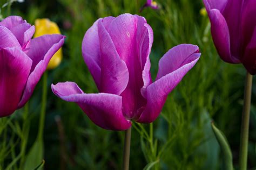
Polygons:
[[98,19],[84,35],[82,43],[82,54],[90,73],[98,89],[100,89],[100,49],[98,36]]

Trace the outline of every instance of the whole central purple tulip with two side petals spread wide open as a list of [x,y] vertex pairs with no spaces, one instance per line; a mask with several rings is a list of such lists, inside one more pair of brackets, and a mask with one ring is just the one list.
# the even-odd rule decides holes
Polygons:
[[131,121],[151,123],[160,114],[167,95],[200,57],[198,46],[170,49],[159,61],[155,82],[150,74],[153,31],[146,19],[128,13],[98,19],[85,33],[84,61],[99,93],[85,94],[76,83],[52,84],[52,91],[76,102],[98,126],[126,130]]

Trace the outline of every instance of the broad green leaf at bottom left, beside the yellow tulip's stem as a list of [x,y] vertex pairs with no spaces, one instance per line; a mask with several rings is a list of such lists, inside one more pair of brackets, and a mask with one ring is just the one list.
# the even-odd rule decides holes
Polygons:
[[33,146],[31,147],[25,161],[24,169],[42,169],[42,167],[38,167],[38,164],[43,160],[43,140],[37,138]]

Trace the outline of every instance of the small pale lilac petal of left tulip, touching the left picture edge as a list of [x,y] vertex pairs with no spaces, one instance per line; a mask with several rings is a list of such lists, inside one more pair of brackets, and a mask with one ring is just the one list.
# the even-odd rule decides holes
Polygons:
[[21,48],[21,45],[19,45],[18,40],[10,30],[4,26],[0,26],[0,48],[6,47]]

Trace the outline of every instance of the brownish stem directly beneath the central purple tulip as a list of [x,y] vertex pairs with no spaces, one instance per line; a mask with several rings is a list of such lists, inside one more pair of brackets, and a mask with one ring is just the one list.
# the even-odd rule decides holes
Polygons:
[[127,129],[125,131],[124,155],[123,155],[123,170],[129,170],[131,132],[132,132],[132,128],[129,128],[129,129]]

